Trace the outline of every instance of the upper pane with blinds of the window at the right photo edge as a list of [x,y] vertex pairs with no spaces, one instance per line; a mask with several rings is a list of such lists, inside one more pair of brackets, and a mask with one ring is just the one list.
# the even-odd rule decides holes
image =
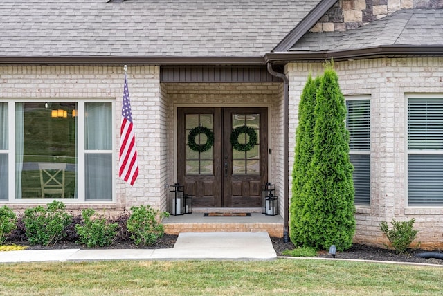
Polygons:
[[443,149],[443,99],[408,99],[408,149]]

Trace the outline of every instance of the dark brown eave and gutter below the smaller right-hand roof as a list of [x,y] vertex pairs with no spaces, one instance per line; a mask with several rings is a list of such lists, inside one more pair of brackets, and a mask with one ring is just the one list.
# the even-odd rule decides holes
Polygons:
[[264,59],[266,62],[275,64],[287,64],[288,62],[319,62],[327,59],[343,61],[376,57],[443,57],[443,46],[376,46],[352,50],[289,51],[267,53]]

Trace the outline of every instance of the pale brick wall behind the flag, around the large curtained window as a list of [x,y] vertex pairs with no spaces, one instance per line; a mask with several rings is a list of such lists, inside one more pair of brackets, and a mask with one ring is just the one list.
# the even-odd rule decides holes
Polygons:
[[[118,164],[123,74],[123,66],[3,66],[0,67],[0,98],[114,99]],[[130,66],[127,75],[140,174],[132,187],[118,178],[116,169],[116,203],[93,203],[97,209],[120,211],[140,204],[162,207],[165,200],[166,104],[160,96],[159,67]],[[26,206],[29,204],[12,205],[16,209]],[[71,209],[87,206],[75,203],[67,205]]]

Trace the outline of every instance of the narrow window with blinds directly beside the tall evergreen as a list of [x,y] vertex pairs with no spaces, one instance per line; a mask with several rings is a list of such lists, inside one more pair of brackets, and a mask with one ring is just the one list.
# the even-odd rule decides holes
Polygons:
[[370,205],[370,100],[346,100],[356,205]]

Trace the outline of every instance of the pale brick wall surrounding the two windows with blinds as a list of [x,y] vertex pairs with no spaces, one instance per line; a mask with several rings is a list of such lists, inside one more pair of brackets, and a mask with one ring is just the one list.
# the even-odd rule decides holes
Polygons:
[[[381,221],[415,218],[422,248],[443,248],[443,207],[407,204],[407,100],[408,93],[434,93],[443,97],[443,58],[368,59],[335,62],[341,91],[362,95],[371,104],[371,203],[356,207],[356,243],[388,244]],[[307,76],[323,73],[322,64],[287,65],[289,76],[289,151],[295,145],[298,102]],[[289,157],[291,167],[293,158]]]

